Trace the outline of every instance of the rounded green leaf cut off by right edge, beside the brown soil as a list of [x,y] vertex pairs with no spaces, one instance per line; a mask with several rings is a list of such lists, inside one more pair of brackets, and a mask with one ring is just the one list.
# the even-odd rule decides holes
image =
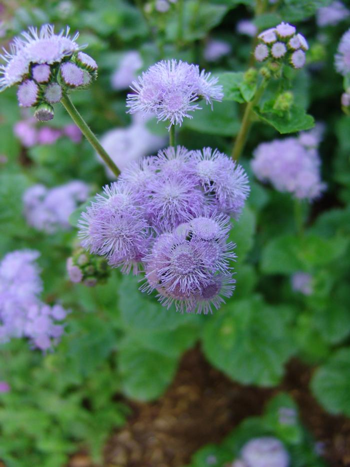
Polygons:
[[328,412],[350,416],[350,347],[335,352],[315,371],[311,389]]

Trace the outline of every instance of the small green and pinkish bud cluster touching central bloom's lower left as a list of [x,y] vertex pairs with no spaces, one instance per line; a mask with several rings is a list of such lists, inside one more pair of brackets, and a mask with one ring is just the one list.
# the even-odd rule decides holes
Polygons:
[[110,272],[107,260],[80,247],[67,259],[66,267],[71,282],[82,282],[88,287],[104,283]]

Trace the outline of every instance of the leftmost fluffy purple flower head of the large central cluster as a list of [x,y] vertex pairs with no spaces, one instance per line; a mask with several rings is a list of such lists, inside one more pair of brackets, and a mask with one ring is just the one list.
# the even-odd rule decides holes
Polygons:
[[150,231],[135,197],[121,183],[105,186],[79,220],[81,245],[105,256],[111,266],[137,274],[146,253]]

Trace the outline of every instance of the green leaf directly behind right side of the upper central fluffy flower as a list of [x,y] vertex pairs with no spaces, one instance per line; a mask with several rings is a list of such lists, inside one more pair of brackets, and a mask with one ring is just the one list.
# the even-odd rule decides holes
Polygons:
[[183,126],[199,133],[235,136],[239,131],[237,107],[228,102],[215,102],[213,110],[201,103],[202,110],[193,113],[192,119],[186,119]]

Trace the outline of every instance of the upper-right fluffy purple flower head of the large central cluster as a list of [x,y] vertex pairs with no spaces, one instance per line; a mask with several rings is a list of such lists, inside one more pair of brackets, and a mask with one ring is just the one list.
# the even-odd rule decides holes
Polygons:
[[233,217],[239,216],[249,195],[248,178],[243,168],[216,149],[194,151],[195,175],[216,207]]

